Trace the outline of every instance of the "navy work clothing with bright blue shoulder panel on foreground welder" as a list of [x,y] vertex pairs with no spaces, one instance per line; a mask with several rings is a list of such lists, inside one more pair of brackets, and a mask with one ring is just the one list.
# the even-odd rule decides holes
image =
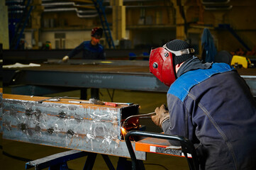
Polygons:
[[213,63],[185,72],[170,86],[167,103],[162,129],[194,143],[200,169],[256,169],[256,101],[233,67]]

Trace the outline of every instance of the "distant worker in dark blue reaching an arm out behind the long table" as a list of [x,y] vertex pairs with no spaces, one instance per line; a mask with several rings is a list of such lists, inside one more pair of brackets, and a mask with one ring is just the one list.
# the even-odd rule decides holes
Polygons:
[[[62,58],[63,62],[67,62],[69,58],[74,57],[83,52],[83,59],[87,60],[105,60],[106,55],[104,52],[104,47],[99,44],[99,40],[102,37],[103,30],[102,28],[93,28],[91,30],[91,40],[84,41],[80,45],[70,51],[65,57]],[[81,89],[81,98],[87,99],[87,89]],[[99,99],[99,89],[91,88],[91,98]]]

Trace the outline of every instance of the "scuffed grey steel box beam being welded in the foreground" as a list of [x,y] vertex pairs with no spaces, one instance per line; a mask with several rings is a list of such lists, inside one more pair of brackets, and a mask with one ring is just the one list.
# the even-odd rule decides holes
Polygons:
[[[138,114],[138,105],[69,103],[67,98],[38,103],[40,99],[4,94],[4,139],[129,157],[121,120]],[[145,153],[138,157],[145,160]]]

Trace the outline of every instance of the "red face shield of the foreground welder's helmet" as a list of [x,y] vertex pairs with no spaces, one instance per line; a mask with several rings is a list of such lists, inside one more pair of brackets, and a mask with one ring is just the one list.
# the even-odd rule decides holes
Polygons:
[[150,52],[150,72],[167,86],[176,80],[172,52],[157,47]]

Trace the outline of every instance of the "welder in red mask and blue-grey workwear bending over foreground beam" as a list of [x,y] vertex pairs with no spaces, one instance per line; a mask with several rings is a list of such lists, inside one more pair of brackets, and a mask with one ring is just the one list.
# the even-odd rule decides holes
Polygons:
[[169,111],[156,108],[152,121],[191,140],[200,169],[256,169],[255,98],[233,67],[193,53],[182,40],[151,50],[150,72],[169,86]]

